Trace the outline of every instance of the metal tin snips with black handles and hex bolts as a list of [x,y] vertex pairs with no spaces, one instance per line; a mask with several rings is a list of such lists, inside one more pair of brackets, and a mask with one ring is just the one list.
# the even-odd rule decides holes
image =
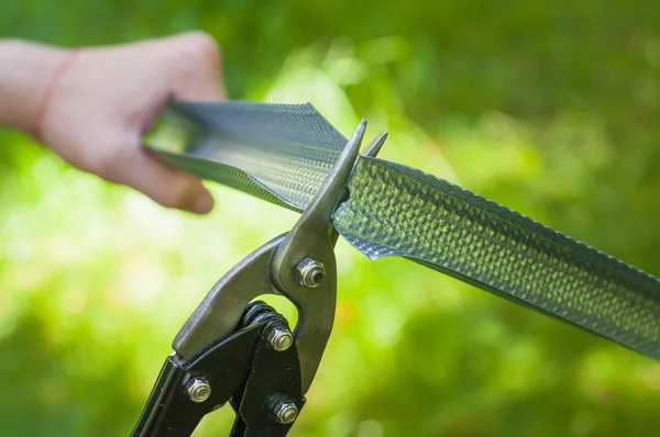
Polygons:
[[[202,417],[229,403],[231,436],[285,436],[305,405],[332,330],[338,232],[332,214],[348,195],[366,122],[292,231],[231,269],[190,315],[173,343],[132,437],[190,436]],[[364,152],[374,157],[378,135]],[[295,329],[254,301],[283,295],[298,312]]]

